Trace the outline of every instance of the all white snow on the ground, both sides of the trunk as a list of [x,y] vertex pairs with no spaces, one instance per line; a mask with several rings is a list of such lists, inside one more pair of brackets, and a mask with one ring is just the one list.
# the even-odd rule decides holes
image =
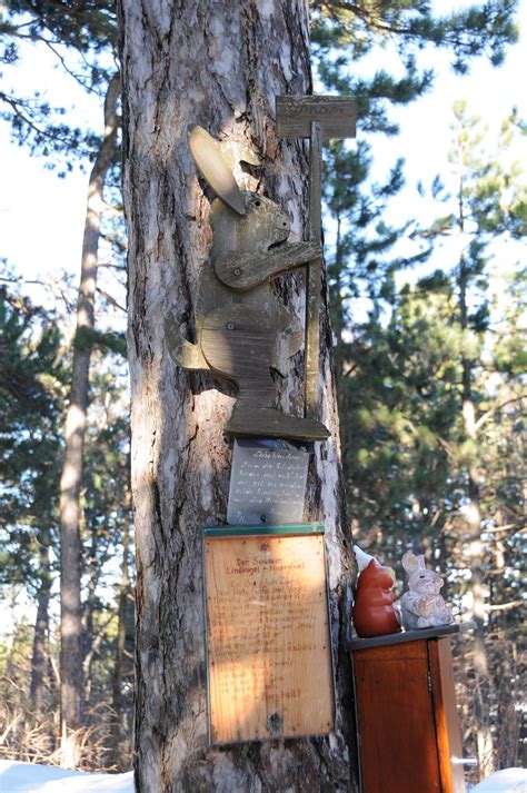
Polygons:
[[[132,772],[87,774],[53,765],[0,760],[0,793],[133,793]],[[387,793],[389,793],[387,791]],[[408,793],[417,791],[408,790]],[[470,793],[527,793],[527,771],[506,769],[488,776]]]

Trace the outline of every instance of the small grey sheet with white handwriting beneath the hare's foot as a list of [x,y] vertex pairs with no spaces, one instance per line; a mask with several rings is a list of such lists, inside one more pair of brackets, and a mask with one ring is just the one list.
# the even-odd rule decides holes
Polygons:
[[309,453],[280,440],[235,440],[227,523],[302,523]]

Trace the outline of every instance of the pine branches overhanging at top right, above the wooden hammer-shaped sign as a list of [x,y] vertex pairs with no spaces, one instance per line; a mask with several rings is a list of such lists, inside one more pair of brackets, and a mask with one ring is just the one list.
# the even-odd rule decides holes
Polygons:
[[[445,49],[458,73],[468,72],[470,61],[483,54],[499,66],[507,47],[518,39],[517,4],[516,0],[493,0],[441,14],[440,7],[429,0],[316,0],[311,3],[311,39],[319,79],[327,88],[356,98],[362,135],[394,135],[398,129],[389,118],[389,108],[409,103],[434,83],[432,70],[422,65],[427,46]],[[387,46],[397,53],[401,77],[384,69],[371,78],[362,77],[362,61]]]

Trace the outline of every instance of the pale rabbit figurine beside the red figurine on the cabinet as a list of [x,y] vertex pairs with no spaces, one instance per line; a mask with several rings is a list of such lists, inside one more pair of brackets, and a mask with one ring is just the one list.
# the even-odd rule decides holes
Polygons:
[[416,556],[411,551],[402,556],[402,567],[408,574],[409,587],[409,592],[405,592],[400,601],[405,630],[414,631],[453,623],[453,609],[439,594],[443,576],[427,569],[425,557]]

